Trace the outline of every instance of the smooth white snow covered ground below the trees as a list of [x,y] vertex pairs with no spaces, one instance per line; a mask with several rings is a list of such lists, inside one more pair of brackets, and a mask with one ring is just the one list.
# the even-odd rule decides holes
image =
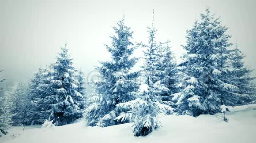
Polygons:
[[99,128],[80,121],[54,129],[28,126],[24,132],[13,127],[0,143],[256,143],[256,104],[231,108],[227,117],[228,123],[215,115],[168,115],[162,128],[145,137],[133,136],[131,124]]

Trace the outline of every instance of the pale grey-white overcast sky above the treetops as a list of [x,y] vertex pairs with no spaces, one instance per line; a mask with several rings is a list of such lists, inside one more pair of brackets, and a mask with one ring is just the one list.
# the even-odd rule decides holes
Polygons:
[[109,58],[103,43],[111,43],[115,22],[125,15],[133,41],[147,42],[153,9],[157,39],[169,39],[180,57],[186,30],[207,5],[229,27],[230,42],[237,40],[245,63],[256,69],[256,0],[0,0],[0,76],[28,81],[40,64],[56,61],[67,40],[74,66],[87,78],[99,60]]

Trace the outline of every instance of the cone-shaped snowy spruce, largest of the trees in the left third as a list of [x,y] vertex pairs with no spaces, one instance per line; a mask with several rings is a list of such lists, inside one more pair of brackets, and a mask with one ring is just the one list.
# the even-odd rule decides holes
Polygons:
[[85,107],[81,104],[84,103],[85,95],[77,91],[79,83],[75,79],[76,70],[72,66],[67,44],[60,49],[56,63],[51,66],[53,71],[45,83],[39,86],[41,98],[36,101],[43,106],[41,113],[49,115],[56,126],[70,124],[81,118]]

